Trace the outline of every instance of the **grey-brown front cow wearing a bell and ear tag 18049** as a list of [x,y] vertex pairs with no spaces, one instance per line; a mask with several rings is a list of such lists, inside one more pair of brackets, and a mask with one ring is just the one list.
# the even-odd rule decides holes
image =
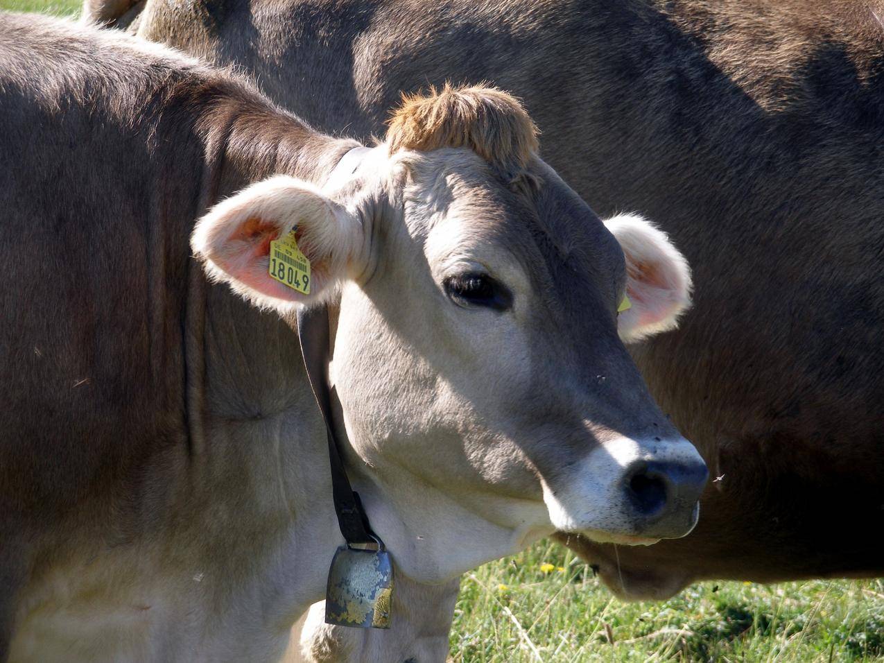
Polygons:
[[412,98],[368,149],[156,44],[0,14],[0,127],[0,659],[282,654],[343,541],[286,324],[320,302],[403,581],[696,522],[705,465],[619,338],[674,323],[687,267],[609,231],[511,96]]

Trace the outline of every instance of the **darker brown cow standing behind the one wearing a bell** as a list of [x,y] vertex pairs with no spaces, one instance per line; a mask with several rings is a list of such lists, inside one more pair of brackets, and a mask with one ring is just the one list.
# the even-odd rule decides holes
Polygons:
[[690,537],[619,571],[571,539],[614,591],[884,572],[864,533],[884,524],[879,0],[141,6],[130,30],[251,72],[326,131],[367,138],[400,90],[490,80],[578,194],[664,223],[702,286],[679,331],[630,351],[718,478]]

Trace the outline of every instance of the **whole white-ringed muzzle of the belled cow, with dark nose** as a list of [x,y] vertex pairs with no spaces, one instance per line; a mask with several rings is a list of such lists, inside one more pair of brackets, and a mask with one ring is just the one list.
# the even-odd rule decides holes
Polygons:
[[545,487],[556,529],[598,542],[650,545],[684,537],[699,517],[709,472],[684,438],[617,438]]

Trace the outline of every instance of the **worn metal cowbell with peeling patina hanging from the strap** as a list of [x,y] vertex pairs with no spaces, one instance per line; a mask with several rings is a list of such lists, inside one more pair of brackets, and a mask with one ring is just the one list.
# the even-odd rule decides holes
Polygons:
[[392,560],[377,550],[342,545],[334,553],[325,589],[325,623],[360,629],[389,629]]

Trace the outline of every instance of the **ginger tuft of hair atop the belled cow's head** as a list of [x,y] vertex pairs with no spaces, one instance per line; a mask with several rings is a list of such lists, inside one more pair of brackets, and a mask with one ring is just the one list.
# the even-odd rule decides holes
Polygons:
[[487,85],[431,87],[402,95],[392,112],[386,142],[400,149],[469,148],[508,181],[517,179],[537,153],[537,126],[512,95]]

